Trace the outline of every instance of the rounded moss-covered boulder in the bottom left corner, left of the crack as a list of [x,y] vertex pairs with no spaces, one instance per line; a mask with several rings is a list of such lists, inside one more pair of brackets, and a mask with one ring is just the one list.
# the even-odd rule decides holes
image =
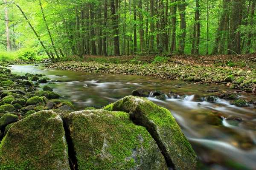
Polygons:
[[60,116],[40,111],[12,125],[0,144],[0,169],[70,170]]

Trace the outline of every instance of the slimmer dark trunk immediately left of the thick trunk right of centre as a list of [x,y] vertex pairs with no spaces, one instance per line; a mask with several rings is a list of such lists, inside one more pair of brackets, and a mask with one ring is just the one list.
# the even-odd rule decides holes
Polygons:
[[172,53],[175,51],[175,37],[176,37],[176,14],[177,14],[177,0],[172,0],[171,4],[171,13],[172,13],[172,41],[171,41],[171,47],[170,47],[170,52]]

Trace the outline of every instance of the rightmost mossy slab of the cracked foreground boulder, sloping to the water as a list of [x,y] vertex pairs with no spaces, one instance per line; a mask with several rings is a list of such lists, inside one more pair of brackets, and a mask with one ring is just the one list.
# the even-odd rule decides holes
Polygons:
[[194,150],[167,109],[134,96],[126,96],[103,109],[127,112],[135,124],[145,127],[157,142],[169,167],[192,170],[198,166]]

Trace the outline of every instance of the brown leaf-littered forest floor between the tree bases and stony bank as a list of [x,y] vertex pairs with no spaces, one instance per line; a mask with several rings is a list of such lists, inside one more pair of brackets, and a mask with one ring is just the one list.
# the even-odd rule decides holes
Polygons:
[[[78,59],[77,56],[70,56],[69,59]],[[84,55],[85,61],[96,62],[116,62],[116,63],[134,63],[146,64],[153,62],[154,64],[176,63],[179,65],[189,66],[207,66],[207,67],[233,67],[242,69],[256,69],[256,53],[253,54],[220,54],[220,55],[177,55],[169,54],[166,56],[157,55],[125,55],[125,56],[94,56]]]

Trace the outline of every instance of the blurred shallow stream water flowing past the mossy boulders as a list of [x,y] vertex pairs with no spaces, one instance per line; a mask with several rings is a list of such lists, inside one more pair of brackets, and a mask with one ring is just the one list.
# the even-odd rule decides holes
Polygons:
[[[72,101],[76,110],[102,108],[131,95],[135,88],[159,90],[165,94],[173,91],[177,99],[148,99],[172,113],[203,162],[202,169],[256,170],[256,107],[237,107],[232,105],[232,100],[217,97],[214,102],[201,102],[206,96],[217,95],[221,91],[229,93],[226,87],[186,84],[154,77],[50,70],[34,65],[12,66],[13,74],[46,74],[45,77],[57,81],[48,85],[64,99]],[[218,92],[207,93],[207,90]],[[238,95],[242,99],[256,100],[256,95]]]

